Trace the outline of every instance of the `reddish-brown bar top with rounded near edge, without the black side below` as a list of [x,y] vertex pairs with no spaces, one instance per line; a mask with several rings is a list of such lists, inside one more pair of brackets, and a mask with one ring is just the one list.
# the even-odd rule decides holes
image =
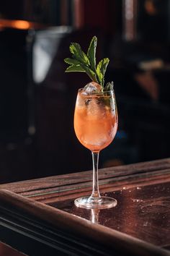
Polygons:
[[90,195],[91,171],[3,184],[0,200],[107,249],[170,255],[170,158],[101,169],[99,181],[102,194],[117,199],[115,208],[84,210],[73,204]]

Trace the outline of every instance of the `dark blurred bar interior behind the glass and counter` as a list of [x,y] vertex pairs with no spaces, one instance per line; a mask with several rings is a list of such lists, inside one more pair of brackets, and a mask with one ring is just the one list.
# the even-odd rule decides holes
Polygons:
[[73,131],[86,74],[69,44],[109,57],[119,129],[99,167],[169,157],[170,0],[1,0],[0,183],[91,169]]

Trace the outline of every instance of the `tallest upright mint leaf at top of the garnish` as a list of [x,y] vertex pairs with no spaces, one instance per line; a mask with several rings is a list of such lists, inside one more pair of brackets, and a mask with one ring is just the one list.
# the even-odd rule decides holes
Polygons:
[[96,70],[96,50],[97,50],[97,37],[94,36],[91,39],[91,43],[87,51],[87,56],[91,64],[91,69],[93,69],[94,71]]

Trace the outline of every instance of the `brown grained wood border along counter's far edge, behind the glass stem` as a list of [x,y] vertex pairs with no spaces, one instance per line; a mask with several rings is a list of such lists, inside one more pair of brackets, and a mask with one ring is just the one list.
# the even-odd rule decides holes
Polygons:
[[[144,163],[135,163],[127,166],[116,166],[110,168],[103,168],[99,170],[99,181],[102,186],[114,183],[117,187],[117,182],[131,182],[135,180],[135,176],[146,177],[150,174],[148,182],[154,179],[154,176],[160,174],[169,174],[170,158],[158,161],[149,161]],[[64,174],[59,176],[50,176],[42,179],[32,179],[23,182],[14,182],[10,184],[1,184],[0,189],[8,189],[24,196],[35,196],[45,194],[48,192],[64,192],[66,190],[71,192],[74,189],[91,190],[92,171],[79,171],[74,174]],[[145,179],[146,182],[146,179]],[[101,186],[101,187],[102,187]],[[113,186],[113,185],[111,185]],[[85,189],[84,189],[85,188]]]

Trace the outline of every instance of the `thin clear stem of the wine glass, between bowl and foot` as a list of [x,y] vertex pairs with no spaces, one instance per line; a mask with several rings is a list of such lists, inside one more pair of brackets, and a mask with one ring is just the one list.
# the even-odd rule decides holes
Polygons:
[[93,191],[91,194],[92,200],[99,200],[101,198],[99,194],[99,180],[98,180],[98,163],[99,152],[91,152],[93,160]]

